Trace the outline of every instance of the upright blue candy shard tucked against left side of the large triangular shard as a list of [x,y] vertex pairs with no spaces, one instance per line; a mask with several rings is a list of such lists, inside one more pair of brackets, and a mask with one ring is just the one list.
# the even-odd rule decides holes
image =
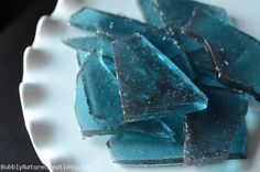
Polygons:
[[[115,123],[122,121],[119,84],[104,62],[102,55],[89,55],[79,72],[89,104],[89,114]],[[109,98],[110,97],[110,98]]]

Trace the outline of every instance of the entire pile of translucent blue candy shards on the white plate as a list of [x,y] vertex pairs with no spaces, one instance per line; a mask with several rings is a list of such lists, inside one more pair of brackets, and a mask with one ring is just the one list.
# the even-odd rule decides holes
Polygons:
[[71,18],[94,33],[64,41],[80,66],[75,111],[83,136],[113,135],[107,146],[119,164],[246,158],[248,97],[236,89],[260,99],[252,57],[259,42],[230,26],[220,8],[193,0],[139,3],[148,24],[91,8]]

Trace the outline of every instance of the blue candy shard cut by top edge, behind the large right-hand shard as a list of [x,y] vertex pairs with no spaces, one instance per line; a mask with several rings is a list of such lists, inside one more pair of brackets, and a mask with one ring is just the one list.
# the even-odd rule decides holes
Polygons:
[[193,0],[139,0],[139,4],[148,23],[167,28],[186,53],[202,49],[180,30],[192,18],[194,8],[206,9],[221,22],[231,23],[224,9]]

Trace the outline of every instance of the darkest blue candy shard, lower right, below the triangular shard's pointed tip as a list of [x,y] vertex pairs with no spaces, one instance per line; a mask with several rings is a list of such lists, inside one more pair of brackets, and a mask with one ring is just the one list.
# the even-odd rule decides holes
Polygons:
[[227,88],[201,88],[208,97],[208,108],[186,116],[186,164],[219,163],[226,160],[248,108],[246,94]]

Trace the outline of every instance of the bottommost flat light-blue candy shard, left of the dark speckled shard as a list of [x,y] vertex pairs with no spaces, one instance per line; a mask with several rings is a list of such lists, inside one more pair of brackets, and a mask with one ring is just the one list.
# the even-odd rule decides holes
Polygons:
[[183,146],[143,135],[112,136],[107,143],[113,162],[129,165],[176,165],[183,162]]

